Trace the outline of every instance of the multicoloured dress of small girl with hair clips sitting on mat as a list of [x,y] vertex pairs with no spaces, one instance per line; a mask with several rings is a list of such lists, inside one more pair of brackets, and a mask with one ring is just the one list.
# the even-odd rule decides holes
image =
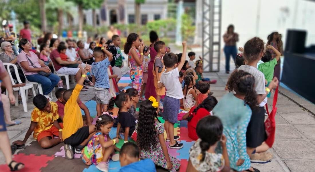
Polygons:
[[[92,163],[97,165],[103,160],[102,145],[100,142],[95,145],[95,141],[99,140],[97,136],[101,134],[101,132],[95,133],[82,150],[82,160],[86,165],[91,165]],[[107,136],[104,136],[104,141],[107,142]]]

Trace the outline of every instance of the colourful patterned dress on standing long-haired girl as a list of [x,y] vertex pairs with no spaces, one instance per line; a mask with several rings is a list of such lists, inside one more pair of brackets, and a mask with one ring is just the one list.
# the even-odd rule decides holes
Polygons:
[[[140,52],[139,50],[137,50],[136,48],[134,48],[138,57],[140,58]],[[138,90],[138,92],[141,92],[141,85],[142,85],[142,72],[143,72],[143,65],[141,64],[140,66],[138,66],[137,62],[135,61],[135,59],[132,57],[131,55],[131,50],[129,50],[129,54],[128,54],[128,58],[129,58],[129,62],[130,62],[130,79],[132,82],[132,87],[136,90]]]

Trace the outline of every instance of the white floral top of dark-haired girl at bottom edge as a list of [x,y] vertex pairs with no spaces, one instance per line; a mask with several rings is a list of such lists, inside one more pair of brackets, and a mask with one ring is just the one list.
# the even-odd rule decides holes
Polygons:
[[192,162],[192,166],[194,166],[197,171],[207,172],[216,172],[223,169],[224,158],[221,153],[210,153],[206,151],[203,162],[200,162],[202,158],[200,141],[201,139],[198,139],[189,150],[189,159]]

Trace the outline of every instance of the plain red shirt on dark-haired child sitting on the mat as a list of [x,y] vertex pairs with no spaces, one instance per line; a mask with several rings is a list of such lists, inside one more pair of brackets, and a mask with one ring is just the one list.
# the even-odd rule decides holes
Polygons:
[[203,117],[210,115],[210,112],[204,108],[199,108],[196,113],[192,113],[194,111],[196,106],[192,107],[192,109],[189,111],[189,116],[193,116],[190,121],[188,121],[187,127],[188,127],[188,137],[197,140],[198,135],[196,133],[196,127],[199,120],[201,120]]

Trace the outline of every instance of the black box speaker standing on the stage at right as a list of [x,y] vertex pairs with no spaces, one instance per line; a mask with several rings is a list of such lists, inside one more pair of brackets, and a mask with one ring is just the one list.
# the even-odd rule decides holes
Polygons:
[[306,41],[306,31],[288,30],[285,51],[290,53],[304,53]]

